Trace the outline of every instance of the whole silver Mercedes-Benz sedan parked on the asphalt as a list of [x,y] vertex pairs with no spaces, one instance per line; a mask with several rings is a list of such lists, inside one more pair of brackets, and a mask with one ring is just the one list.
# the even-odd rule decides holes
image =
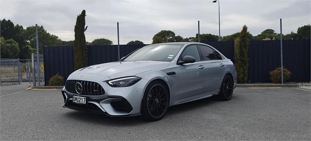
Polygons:
[[64,107],[156,121],[169,106],[213,95],[230,100],[236,80],[232,61],[215,48],[162,43],[142,47],[118,62],[74,71],[62,94]]

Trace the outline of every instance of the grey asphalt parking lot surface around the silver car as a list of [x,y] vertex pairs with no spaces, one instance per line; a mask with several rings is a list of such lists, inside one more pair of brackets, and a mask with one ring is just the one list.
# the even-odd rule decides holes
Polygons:
[[60,90],[3,95],[0,140],[309,140],[310,91],[236,88],[168,109],[157,122],[63,108]]

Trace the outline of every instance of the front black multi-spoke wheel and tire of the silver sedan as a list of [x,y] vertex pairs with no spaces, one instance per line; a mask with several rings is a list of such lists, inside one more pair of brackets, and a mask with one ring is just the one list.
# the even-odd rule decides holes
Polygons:
[[161,120],[169,106],[169,89],[160,81],[148,85],[141,102],[141,114],[145,120]]

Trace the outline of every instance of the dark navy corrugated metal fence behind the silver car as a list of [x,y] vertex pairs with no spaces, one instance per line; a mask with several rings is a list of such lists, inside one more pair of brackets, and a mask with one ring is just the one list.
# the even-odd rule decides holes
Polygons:
[[[234,42],[207,42],[234,62]],[[143,45],[120,45],[120,56],[125,56]],[[91,45],[88,65],[118,61],[118,45]],[[310,82],[310,39],[283,40],[283,66],[292,72],[290,82]],[[44,47],[45,85],[59,73],[68,78],[73,72],[73,47]],[[280,66],[280,41],[250,41],[250,83],[268,83],[269,72]]]

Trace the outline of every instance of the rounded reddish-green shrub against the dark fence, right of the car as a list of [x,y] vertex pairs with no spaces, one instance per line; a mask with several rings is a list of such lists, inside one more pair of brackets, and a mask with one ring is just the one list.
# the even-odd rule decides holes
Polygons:
[[[291,71],[283,68],[283,82],[287,82],[291,78]],[[282,83],[281,67],[276,68],[274,71],[270,71],[270,79],[272,83]]]

